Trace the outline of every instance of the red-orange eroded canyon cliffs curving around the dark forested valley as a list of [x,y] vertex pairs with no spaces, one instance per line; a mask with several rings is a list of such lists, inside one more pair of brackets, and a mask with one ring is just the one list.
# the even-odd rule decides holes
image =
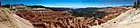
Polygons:
[[77,19],[71,16],[70,11],[54,11],[51,9],[44,10],[17,10],[16,14],[29,20],[36,28],[90,28],[91,26],[100,25],[111,20],[122,12],[129,9],[126,8],[107,8],[106,16],[99,18]]

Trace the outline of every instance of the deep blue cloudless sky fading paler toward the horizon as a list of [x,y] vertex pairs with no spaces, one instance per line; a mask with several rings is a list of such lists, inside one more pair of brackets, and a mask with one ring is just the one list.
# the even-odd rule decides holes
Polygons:
[[107,7],[132,5],[135,0],[2,0],[2,4],[43,5],[47,7]]

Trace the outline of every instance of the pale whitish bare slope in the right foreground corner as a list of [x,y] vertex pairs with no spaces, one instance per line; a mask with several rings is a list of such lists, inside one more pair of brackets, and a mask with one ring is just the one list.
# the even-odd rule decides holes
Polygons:
[[[130,9],[127,12],[119,15],[115,19],[106,22],[105,24],[103,24],[103,27],[104,28],[128,28],[128,27],[134,28],[132,27],[132,24],[139,25],[139,23],[140,23],[140,10]],[[139,28],[139,27],[135,27],[135,28]]]

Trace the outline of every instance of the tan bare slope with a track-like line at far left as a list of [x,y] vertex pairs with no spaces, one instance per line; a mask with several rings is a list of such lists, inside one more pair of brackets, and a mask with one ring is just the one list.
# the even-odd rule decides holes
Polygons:
[[9,9],[0,8],[0,27],[1,28],[34,28],[33,25]]

